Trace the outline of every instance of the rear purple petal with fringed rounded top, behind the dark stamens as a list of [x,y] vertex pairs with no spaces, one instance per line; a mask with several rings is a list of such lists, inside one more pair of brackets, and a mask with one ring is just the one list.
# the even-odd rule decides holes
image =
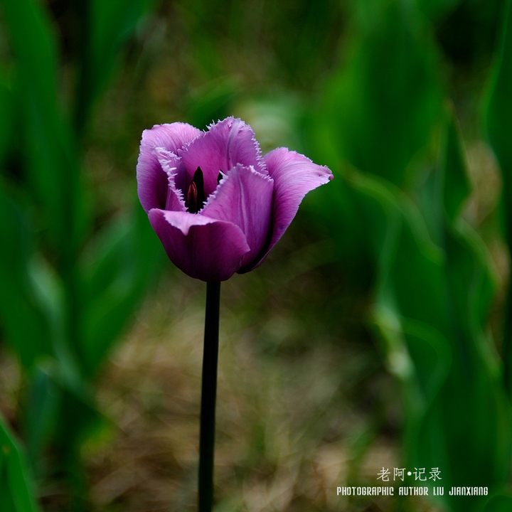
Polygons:
[[262,174],[267,174],[254,132],[248,124],[233,117],[210,126],[208,132],[180,149],[178,155],[187,169],[186,187],[191,183],[196,169],[201,167],[206,197],[217,187],[219,171],[227,173],[236,164],[253,166]]

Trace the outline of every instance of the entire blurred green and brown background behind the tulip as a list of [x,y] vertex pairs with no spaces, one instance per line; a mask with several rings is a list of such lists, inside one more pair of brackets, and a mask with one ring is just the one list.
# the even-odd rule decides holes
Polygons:
[[[1,511],[196,510],[205,285],[135,166],[143,129],[228,115],[335,178],[223,284],[215,512],[512,510],[510,16],[1,0]],[[420,484],[394,468],[444,496],[336,496]]]

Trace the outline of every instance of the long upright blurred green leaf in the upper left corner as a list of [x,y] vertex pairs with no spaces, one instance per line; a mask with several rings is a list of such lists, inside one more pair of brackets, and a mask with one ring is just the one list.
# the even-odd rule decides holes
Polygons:
[[[16,57],[14,89],[23,110],[23,156],[43,205],[43,222],[63,260],[78,243],[78,151],[60,112],[57,50],[40,2],[4,0],[3,14]],[[64,265],[70,265],[69,261]]]

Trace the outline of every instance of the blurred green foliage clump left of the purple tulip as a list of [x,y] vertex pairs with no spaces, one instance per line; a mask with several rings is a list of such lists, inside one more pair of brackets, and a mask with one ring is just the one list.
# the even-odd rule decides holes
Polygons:
[[[75,55],[74,106],[65,111],[59,48],[45,6],[31,0],[2,2],[11,60],[4,69],[1,102],[16,110],[0,112],[7,168],[0,182],[0,230],[9,240],[2,245],[0,316],[28,377],[22,432],[30,462],[40,478],[59,467],[67,471],[79,501],[80,442],[100,417],[90,379],[161,261],[137,210],[92,230],[94,213],[86,208],[81,176],[82,130],[112,75],[120,46],[148,6],[75,5],[86,30],[83,53]],[[89,245],[95,250],[84,260]],[[58,447],[53,469],[41,464],[48,444]],[[18,491],[12,491],[15,499]]]

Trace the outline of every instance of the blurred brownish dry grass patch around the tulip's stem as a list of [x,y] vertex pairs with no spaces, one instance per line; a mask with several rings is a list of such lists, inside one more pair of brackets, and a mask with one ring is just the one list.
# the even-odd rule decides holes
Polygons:
[[[396,383],[368,338],[329,339],[321,324],[287,314],[281,303],[290,296],[294,311],[310,303],[292,294],[304,277],[270,292],[270,304],[249,317],[252,283],[235,277],[224,286],[216,510],[337,511],[336,486],[375,484],[383,464],[398,464]],[[92,498],[106,510],[195,509],[204,290],[168,279],[100,384],[100,404],[120,433],[85,460]]]

